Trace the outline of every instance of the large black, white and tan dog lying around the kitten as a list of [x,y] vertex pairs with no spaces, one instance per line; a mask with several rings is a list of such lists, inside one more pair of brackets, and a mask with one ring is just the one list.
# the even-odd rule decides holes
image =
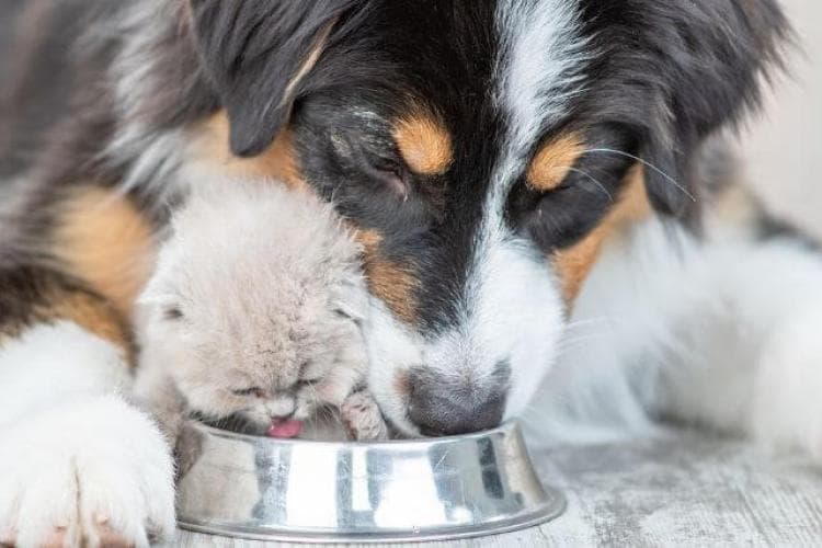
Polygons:
[[407,436],[665,415],[822,457],[818,255],[710,158],[783,65],[775,0],[32,0],[15,24],[0,535],[172,534],[129,317],[215,173],[333,198],[365,249],[369,387]]

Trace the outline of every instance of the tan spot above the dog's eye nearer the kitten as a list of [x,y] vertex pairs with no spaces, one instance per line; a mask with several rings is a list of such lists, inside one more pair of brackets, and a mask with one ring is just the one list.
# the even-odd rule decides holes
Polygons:
[[441,175],[454,161],[450,134],[434,116],[401,118],[395,126],[393,138],[402,159],[416,174]]

